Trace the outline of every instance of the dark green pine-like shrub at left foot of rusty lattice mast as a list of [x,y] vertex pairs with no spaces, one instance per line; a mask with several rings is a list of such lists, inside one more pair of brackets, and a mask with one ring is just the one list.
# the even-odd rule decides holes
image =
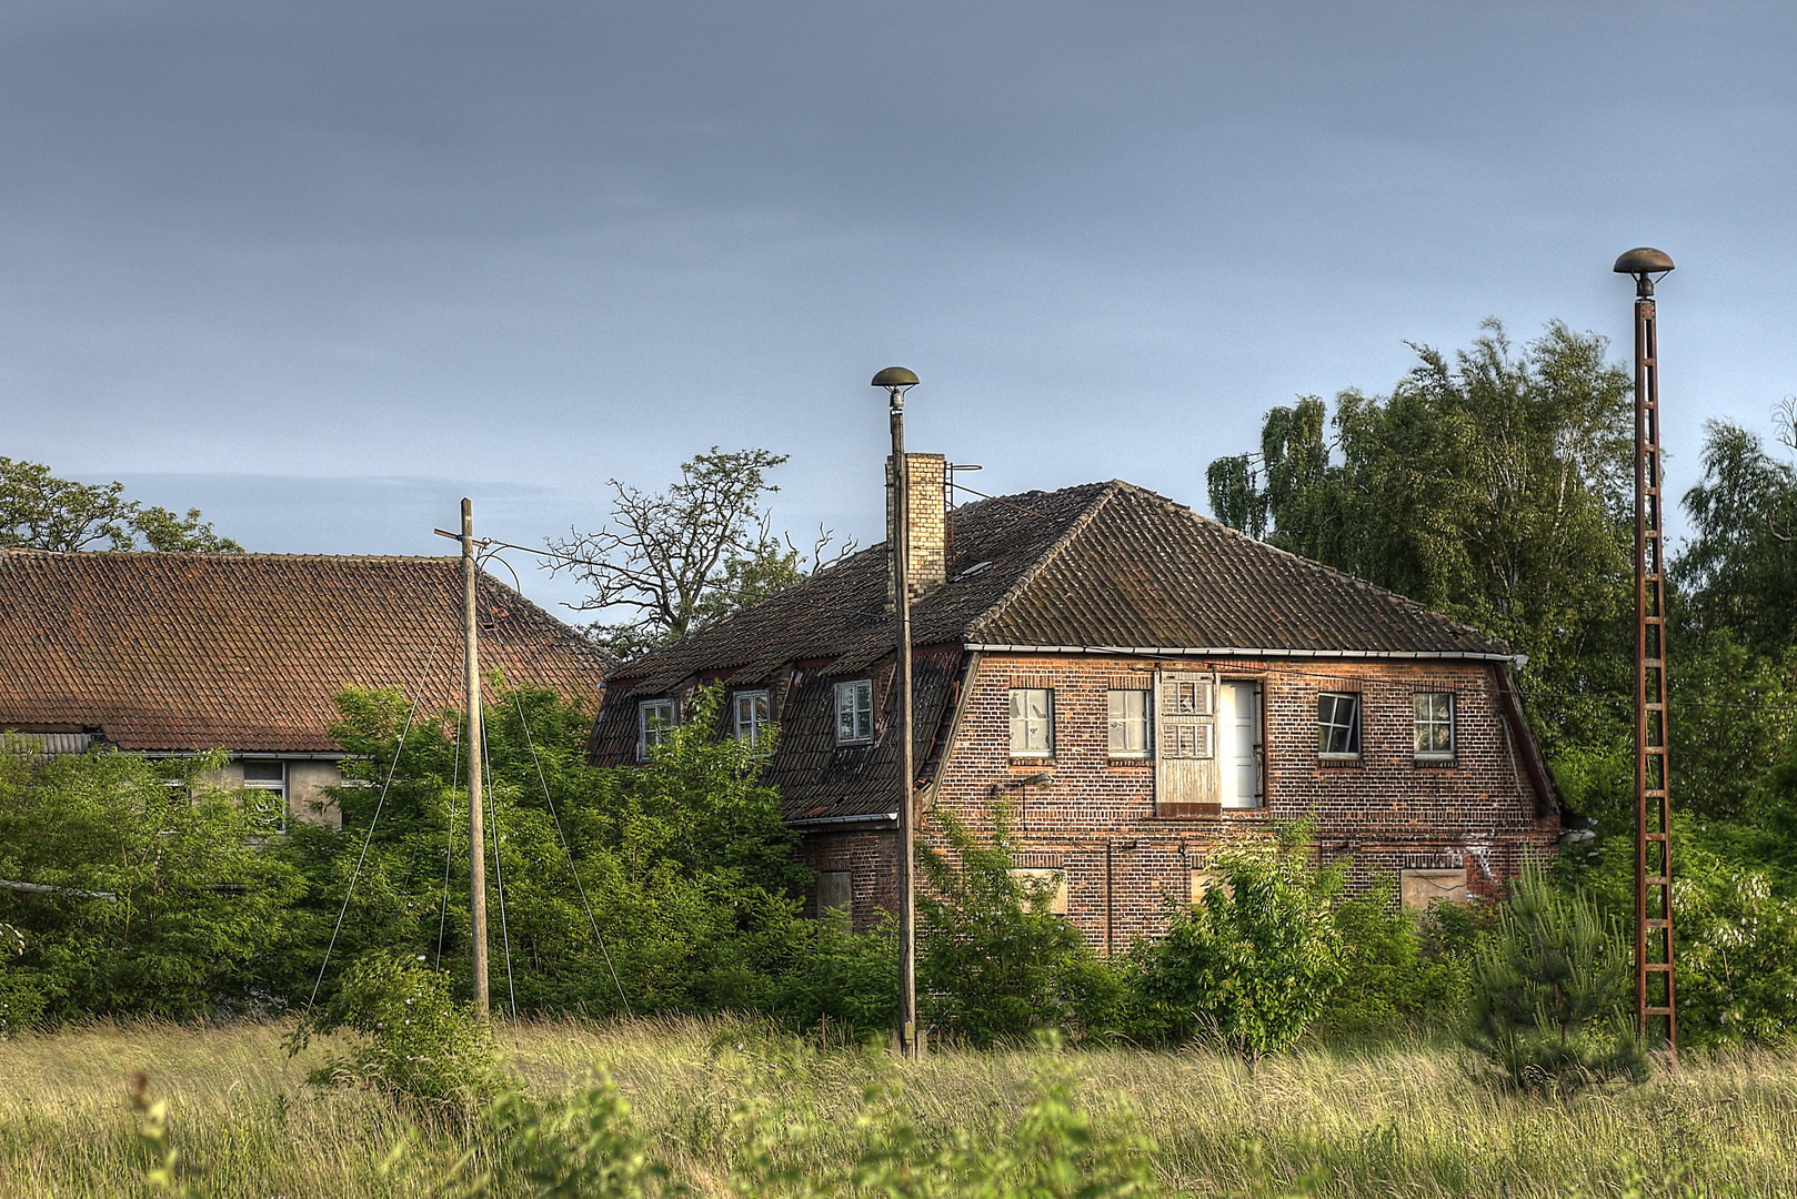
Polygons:
[[1628,962],[1621,926],[1596,902],[1524,872],[1475,958],[1466,1044],[1529,1091],[1644,1079]]

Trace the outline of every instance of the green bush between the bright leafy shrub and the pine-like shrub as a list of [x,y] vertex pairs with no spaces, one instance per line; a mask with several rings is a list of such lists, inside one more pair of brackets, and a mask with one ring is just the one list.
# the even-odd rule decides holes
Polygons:
[[1470,974],[1468,924],[1479,917],[1445,902],[1423,917],[1400,908],[1396,893],[1396,879],[1380,875],[1366,893],[1335,904],[1342,981],[1319,1026],[1373,1034],[1461,1019]]

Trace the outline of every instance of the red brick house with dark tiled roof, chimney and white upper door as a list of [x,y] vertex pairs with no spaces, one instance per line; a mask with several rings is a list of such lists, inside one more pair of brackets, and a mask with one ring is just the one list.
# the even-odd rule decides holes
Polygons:
[[[1490,895],[1553,850],[1558,796],[1509,647],[1130,484],[949,511],[911,455],[915,802],[1051,872],[1102,951],[1164,926],[1218,847],[1317,818],[1405,902]],[[618,667],[591,757],[642,760],[694,688],[726,732],[778,723],[767,780],[819,872],[812,904],[895,906],[897,728],[884,545]]]

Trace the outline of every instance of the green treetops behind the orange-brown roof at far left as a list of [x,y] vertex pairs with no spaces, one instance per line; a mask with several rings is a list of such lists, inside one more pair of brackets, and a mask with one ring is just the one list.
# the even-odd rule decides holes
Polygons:
[[199,509],[178,516],[124,498],[124,484],[56,478],[41,462],[0,458],[0,548],[74,554],[108,543],[113,550],[241,552],[212,532]]

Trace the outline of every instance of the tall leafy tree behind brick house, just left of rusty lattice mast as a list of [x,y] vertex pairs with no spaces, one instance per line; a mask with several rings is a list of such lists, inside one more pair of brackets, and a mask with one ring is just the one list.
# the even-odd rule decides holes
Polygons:
[[[1267,413],[1258,455],[1211,464],[1218,520],[1477,626],[1529,656],[1549,739],[1614,733],[1628,692],[1632,381],[1554,322],[1517,352],[1497,320],[1389,395]],[[1330,435],[1333,426],[1333,435]],[[1261,516],[1265,512],[1265,518]],[[1265,523],[1263,523],[1265,521]]]

